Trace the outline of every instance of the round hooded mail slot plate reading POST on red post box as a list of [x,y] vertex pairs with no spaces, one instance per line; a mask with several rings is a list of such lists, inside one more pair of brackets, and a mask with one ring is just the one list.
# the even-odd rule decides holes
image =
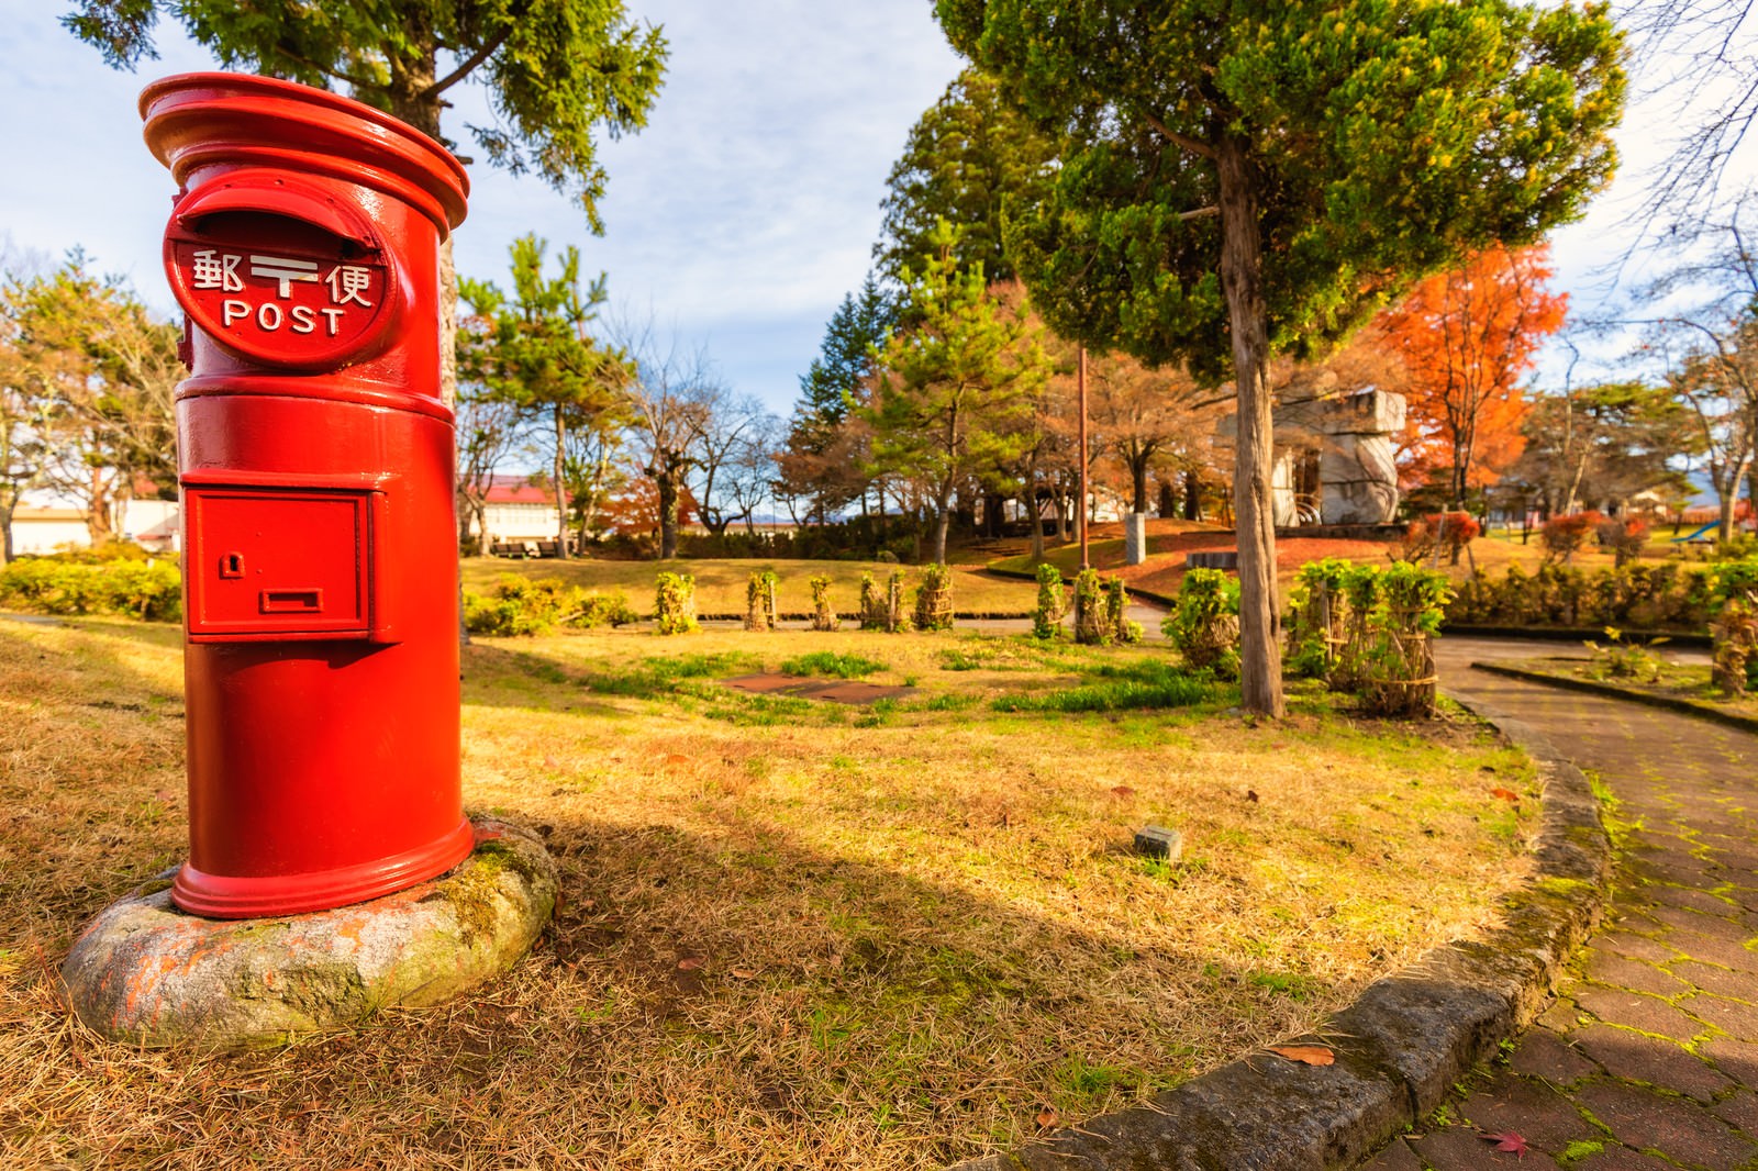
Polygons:
[[165,274],[197,329],[271,366],[360,360],[396,316],[392,260],[366,215],[267,171],[232,172],[178,200]]

